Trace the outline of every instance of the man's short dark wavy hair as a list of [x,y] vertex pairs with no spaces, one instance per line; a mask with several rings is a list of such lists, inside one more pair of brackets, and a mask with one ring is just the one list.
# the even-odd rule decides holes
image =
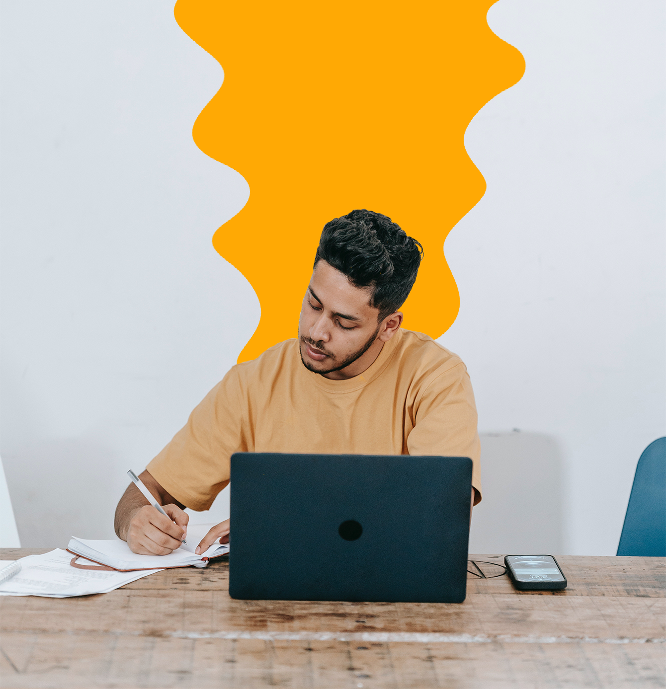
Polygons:
[[391,218],[364,209],[324,225],[314,257],[332,265],[355,287],[372,287],[370,306],[383,320],[410,294],[423,247]]

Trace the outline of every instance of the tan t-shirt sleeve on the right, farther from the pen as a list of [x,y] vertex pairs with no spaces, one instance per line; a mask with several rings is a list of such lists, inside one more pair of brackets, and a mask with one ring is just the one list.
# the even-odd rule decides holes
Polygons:
[[481,500],[481,442],[472,382],[463,362],[439,373],[414,405],[414,429],[407,437],[410,455],[470,457],[474,504]]

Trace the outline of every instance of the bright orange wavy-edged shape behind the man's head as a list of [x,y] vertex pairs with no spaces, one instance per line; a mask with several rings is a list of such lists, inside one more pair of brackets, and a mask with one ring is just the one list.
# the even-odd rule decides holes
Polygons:
[[443,243],[485,192],[465,129],[525,70],[487,25],[492,4],[178,0],[176,21],[225,74],[194,141],[250,185],[213,237],[261,304],[239,362],[296,336],[321,228],[354,208],[390,216],[424,247],[405,327],[436,338],[452,325]]

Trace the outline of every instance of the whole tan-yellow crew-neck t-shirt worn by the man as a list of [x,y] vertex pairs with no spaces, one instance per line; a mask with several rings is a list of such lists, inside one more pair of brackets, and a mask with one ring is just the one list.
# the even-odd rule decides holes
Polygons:
[[210,508],[234,452],[470,457],[481,500],[476,407],[465,364],[432,338],[400,329],[374,363],[329,380],[285,340],[234,366],[148,464],[176,500]]

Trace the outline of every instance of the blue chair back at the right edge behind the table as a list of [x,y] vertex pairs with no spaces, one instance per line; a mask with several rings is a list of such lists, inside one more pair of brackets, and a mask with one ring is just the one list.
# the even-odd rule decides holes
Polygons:
[[666,555],[666,438],[640,455],[618,555]]

